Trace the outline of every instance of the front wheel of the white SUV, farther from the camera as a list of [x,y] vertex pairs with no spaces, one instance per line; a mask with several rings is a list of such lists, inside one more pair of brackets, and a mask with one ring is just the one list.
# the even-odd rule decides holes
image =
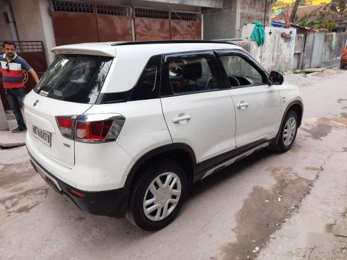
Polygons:
[[276,145],[272,146],[272,149],[279,153],[287,152],[294,144],[297,132],[298,115],[293,110],[289,110],[285,116],[280,132],[278,133],[278,142]]

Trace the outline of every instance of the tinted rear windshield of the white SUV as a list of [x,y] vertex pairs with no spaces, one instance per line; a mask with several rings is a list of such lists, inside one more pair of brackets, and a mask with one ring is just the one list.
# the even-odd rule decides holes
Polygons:
[[94,104],[112,59],[93,55],[58,55],[35,87],[35,92],[61,101]]

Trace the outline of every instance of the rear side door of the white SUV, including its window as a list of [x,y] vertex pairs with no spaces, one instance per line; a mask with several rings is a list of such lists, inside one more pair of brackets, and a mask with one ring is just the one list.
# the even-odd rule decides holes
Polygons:
[[191,146],[198,163],[232,156],[235,108],[214,53],[165,55],[162,71],[162,110],[173,142]]

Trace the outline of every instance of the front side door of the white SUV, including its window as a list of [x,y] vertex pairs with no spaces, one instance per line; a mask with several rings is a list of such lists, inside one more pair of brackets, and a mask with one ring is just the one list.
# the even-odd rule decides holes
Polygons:
[[280,127],[278,86],[255,60],[242,51],[219,51],[235,103],[237,153],[276,137]]

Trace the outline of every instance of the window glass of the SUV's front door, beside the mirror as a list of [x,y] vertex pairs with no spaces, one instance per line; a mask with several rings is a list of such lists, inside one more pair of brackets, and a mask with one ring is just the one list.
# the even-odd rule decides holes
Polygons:
[[251,87],[267,83],[264,73],[258,71],[247,60],[237,55],[221,56],[232,87]]

